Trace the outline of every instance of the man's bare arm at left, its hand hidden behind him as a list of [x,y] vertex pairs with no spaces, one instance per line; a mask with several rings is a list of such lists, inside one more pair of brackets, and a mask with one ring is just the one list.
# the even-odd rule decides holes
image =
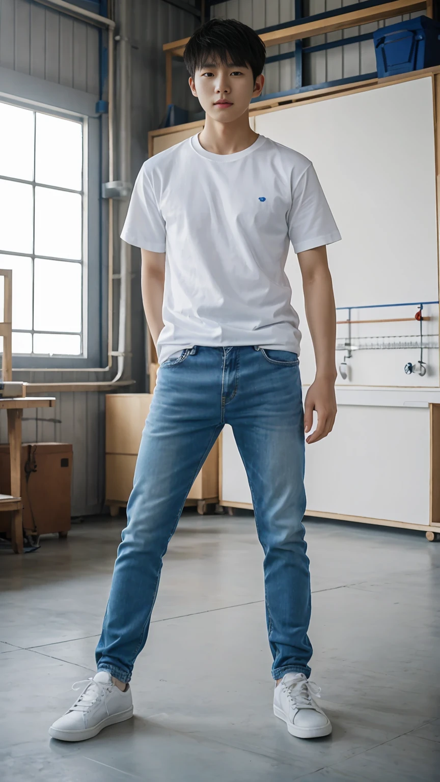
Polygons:
[[165,253],[150,253],[141,249],[141,289],[146,322],[157,347],[157,338],[164,328],[162,305],[164,303]]

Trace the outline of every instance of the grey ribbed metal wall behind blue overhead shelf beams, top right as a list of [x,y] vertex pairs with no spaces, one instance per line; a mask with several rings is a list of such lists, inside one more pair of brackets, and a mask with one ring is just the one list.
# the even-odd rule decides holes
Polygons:
[[[304,0],[304,16],[312,16],[332,9],[341,8],[344,5],[353,5],[355,0]],[[378,27],[395,24],[400,20],[414,19],[424,11],[396,16],[394,19],[384,20],[378,23],[364,24],[361,27],[351,27],[349,30],[340,30],[326,35],[316,35],[303,41],[305,46],[316,46],[330,41],[339,41],[341,38],[352,38],[373,32]],[[211,17],[218,16],[222,19],[238,19],[248,24],[254,30],[269,27],[272,24],[281,24],[294,20],[294,0],[229,0],[218,3],[211,8]],[[294,44],[271,46],[268,56],[282,54],[294,50]],[[335,81],[346,77],[370,74],[376,70],[376,56],[373,41],[361,41],[347,46],[326,49],[323,52],[305,54],[303,60],[303,84],[322,84],[325,81]],[[280,63],[268,63],[265,66],[265,88],[263,95],[272,92],[293,89],[295,84],[294,59],[281,61]]]

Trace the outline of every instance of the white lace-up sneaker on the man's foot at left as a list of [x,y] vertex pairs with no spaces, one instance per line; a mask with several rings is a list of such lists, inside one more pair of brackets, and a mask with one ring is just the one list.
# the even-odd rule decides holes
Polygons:
[[128,685],[122,692],[111,680],[110,673],[98,671],[93,679],[75,682],[86,684],[78,700],[49,728],[49,735],[61,741],[84,741],[99,734],[107,725],[121,723],[133,716],[132,691]]

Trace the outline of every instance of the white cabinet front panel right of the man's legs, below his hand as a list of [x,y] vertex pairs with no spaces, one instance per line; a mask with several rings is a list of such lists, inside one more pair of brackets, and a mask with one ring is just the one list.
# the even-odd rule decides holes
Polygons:
[[308,511],[429,524],[429,407],[353,407],[306,447]]

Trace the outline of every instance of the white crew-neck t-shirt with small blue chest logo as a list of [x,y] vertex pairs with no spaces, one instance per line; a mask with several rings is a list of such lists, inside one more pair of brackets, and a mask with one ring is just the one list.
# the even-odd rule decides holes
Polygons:
[[310,160],[260,135],[232,155],[193,136],[146,160],[121,238],[166,251],[162,363],[194,345],[299,353],[289,243],[301,253],[341,235]]

